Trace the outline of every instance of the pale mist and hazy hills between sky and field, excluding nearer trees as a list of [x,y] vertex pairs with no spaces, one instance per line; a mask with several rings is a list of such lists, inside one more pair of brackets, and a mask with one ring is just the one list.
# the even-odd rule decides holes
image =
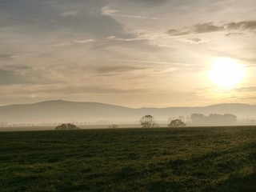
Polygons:
[[145,114],[152,115],[160,126],[167,126],[176,118],[187,126],[237,126],[254,124],[255,110],[256,106],[246,104],[135,109],[98,102],[53,100],[0,106],[0,126],[55,126],[68,122],[92,128],[113,123],[139,126],[139,119]]

